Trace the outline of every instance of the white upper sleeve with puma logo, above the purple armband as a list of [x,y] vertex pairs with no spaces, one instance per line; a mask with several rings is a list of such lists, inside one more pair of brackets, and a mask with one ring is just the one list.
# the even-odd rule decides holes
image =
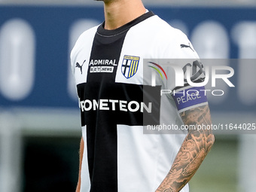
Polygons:
[[[175,32],[172,34],[175,38],[172,37],[165,50],[169,52],[166,53],[169,58],[163,62],[168,77],[166,83],[168,90],[187,86],[190,81],[203,81],[205,78],[203,65],[187,35],[178,29],[173,30]],[[187,79],[187,73],[190,74],[190,79]]]

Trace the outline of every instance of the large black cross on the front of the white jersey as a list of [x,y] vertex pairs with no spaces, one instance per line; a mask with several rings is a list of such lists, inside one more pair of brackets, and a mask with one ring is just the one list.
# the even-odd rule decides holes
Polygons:
[[[105,110],[93,110],[91,108],[89,111],[81,111],[82,126],[87,126],[90,192],[117,191],[117,124],[142,126],[145,123],[143,119],[151,120],[151,122],[146,122],[147,124],[159,124],[160,87],[147,87],[145,89],[143,85],[115,83],[117,66],[112,64],[110,66],[113,67],[113,72],[91,72],[90,69],[91,67],[100,67],[94,62],[97,60],[108,59],[108,61],[118,62],[126,33],[132,26],[152,15],[154,14],[148,12],[112,31],[105,30],[103,25],[99,26],[94,37],[87,71],[87,83],[78,84],[80,101],[99,102],[100,99],[106,99],[105,101],[111,99],[112,101],[136,101],[139,104],[142,102],[147,104],[151,101],[154,106],[151,115],[157,118],[145,117],[145,113],[140,110],[120,110],[117,103],[113,104],[113,102],[111,104],[108,102],[109,105],[104,106]],[[145,95],[143,96],[145,90],[148,90],[146,94],[148,99],[145,99]],[[97,103],[97,105],[99,104]]]

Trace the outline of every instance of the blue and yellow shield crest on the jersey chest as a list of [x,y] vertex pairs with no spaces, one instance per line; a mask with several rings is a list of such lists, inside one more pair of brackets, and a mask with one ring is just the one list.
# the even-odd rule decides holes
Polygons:
[[122,73],[126,78],[132,78],[138,71],[139,56],[123,56]]

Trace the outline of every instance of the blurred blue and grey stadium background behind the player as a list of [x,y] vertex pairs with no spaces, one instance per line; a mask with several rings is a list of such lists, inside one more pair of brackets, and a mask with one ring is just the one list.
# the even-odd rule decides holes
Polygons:
[[[255,0],[143,2],[201,58],[256,59]],[[69,53],[102,20],[93,0],[0,0],[1,192],[75,191],[81,130]],[[230,63],[236,87],[210,96],[213,123],[256,123],[256,63]],[[256,135],[216,131],[215,139],[191,192],[256,191]]]

